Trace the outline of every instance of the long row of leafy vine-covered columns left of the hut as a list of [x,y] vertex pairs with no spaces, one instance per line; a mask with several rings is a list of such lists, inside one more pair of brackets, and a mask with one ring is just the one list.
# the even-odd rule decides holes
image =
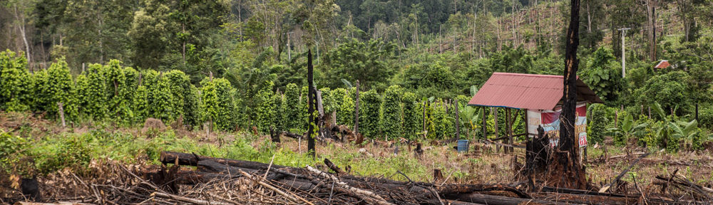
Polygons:
[[[110,120],[133,125],[151,117],[168,124],[180,117],[190,129],[235,131],[256,127],[261,133],[269,132],[270,127],[307,130],[307,98],[303,98],[307,86],[290,83],[277,88],[267,80],[257,93],[241,95],[225,78],[207,77],[197,87],[180,70],[135,70],[113,60],[106,65],[90,64],[78,75],[71,75],[67,63],[58,59],[46,70],[31,73],[21,55],[6,51],[2,56],[4,92],[0,101],[8,112],[43,112],[48,119],[59,120],[62,107],[70,123]],[[324,112],[334,112],[333,120],[338,125],[353,127],[356,87],[346,84],[345,88],[319,91]],[[481,114],[466,107],[468,100],[466,95],[418,98],[398,85],[384,93],[361,92],[360,131],[374,139],[416,140],[425,136],[443,140],[455,135],[457,101],[463,112],[461,132],[463,136],[473,132],[470,135],[474,137],[476,130],[467,127],[474,128],[472,123],[477,123],[476,115]]]

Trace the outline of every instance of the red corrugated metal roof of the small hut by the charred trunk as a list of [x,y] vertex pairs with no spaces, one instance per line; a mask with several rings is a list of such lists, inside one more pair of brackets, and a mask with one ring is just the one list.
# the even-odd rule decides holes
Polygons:
[[[552,110],[563,95],[562,75],[493,73],[468,105]],[[578,101],[602,102],[577,79]]]

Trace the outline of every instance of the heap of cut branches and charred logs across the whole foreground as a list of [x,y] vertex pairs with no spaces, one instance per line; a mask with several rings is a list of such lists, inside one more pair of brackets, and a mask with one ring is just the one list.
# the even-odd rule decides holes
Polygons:
[[[682,195],[612,194],[514,184],[434,184],[355,177],[324,160],[315,168],[162,152],[163,166],[93,162],[86,173],[63,170],[40,179],[45,202],[73,204],[707,204],[711,190],[680,175],[661,176]],[[79,176],[78,176],[79,175]],[[80,177],[81,176],[81,177]],[[687,187],[694,187],[687,189]],[[528,189],[530,189],[528,191]],[[19,200],[29,201],[29,199]],[[7,202],[7,201],[5,201]],[[20,202],[23,204],[23,202]]]

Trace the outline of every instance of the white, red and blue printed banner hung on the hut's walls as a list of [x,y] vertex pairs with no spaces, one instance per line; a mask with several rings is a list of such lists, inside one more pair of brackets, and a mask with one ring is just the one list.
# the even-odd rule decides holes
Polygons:
[[[550,138],[550,147],[560,141],[560,113],[561,107],[555,110],[528,110],[528,133],[530,137],[538,135],[537,128],[542,125],[545,134]],[[587,146],[587,104],[577,105],[577,120],[575,122],[575,135],[579,137],[580,147]]]

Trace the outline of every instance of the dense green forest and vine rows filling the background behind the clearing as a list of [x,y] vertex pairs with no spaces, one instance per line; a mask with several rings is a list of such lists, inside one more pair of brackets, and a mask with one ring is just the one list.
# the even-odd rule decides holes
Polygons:
[[[463,105],[491,73],[563,73],[569,16],[568,1],[537,0],[0,2],[2,110],[56,117],[62,102],[70,120],[304,130],[312,49],[325,109],[351,125],[360,100],[368,137],[413,137],[423,121],[429,137],[451,135],[451,99],[463,132],[477,132],[474,116],[489,113]],[[605,101],[589,108],[593,142],[708,140],[713,1],[581,6],[578,75]],[[654,68],[661,60],[670,67]]]

